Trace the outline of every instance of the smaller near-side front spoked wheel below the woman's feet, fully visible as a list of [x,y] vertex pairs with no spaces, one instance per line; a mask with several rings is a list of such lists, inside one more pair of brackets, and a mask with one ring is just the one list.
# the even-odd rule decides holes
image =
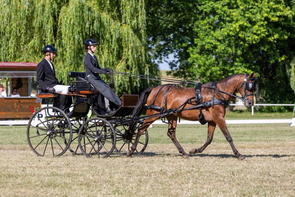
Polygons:
[[91,118],[81,126],[78,144],[86,157],[108,157],[116,145],[114,127],[103,118]]

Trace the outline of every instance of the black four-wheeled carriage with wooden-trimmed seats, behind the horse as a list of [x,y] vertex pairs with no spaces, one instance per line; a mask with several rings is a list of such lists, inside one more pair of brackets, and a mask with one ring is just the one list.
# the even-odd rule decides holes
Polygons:
[[[122,95],[122,106],[109,115],[99,108],[99,92],[86,80],[85,73],[69,72],[68,76],[73,78],[68,94],[73,103],[69,115],[56,105],[60,94],[41,92],[38,88],[36,102],[44,100],[47,107],[37,110],[27,126],[27,140],[33,152],[38,156],[52,154],[55,157],[69,150],[86,157],[108,157],[115,150],[126,155],[137,128],[142,124],[136,120],[136,128],[129,130],[134,122],[130,114],[137,104],[138,95]],[[53,106],[48,105],[49,100],[53,100]],[[135,151],[137,155],[148,144],[148,131],[143,136]]]

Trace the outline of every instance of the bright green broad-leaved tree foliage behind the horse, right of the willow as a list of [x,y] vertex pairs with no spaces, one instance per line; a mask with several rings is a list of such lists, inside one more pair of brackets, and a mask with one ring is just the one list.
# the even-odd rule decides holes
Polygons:
[[[177,53],[171,64],[175,76],[208,82],[256,71],[263,102],[294,102],[293,0],[150,2],[148,25],[158,16],[157,27],[166,30],[157,35],[148,29],[151,46]],[[167,53],[154,53],[154,58]]]

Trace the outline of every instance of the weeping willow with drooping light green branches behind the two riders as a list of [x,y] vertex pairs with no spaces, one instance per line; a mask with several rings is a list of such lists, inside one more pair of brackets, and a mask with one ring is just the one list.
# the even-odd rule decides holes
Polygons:
[[[84,71],[83,42],[98,43],[103,68],[135,74],[158,74],[149,66],[144,0],[0,1],[0,61],[42,58],[42,47],[58,50],[56,75],[63,83],[68,71]],[[119,94],[140,92],[152,81],[115,76]]]

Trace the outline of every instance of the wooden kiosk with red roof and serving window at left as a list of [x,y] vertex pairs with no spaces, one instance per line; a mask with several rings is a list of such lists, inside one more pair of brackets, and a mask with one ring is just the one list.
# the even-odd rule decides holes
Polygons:
[[[28,62],[0,62],[0,84],[7,93],[7,97],[0,97],[1,120],[27,119],[32,116],[32,110],[41,108],[41,103],[35,103],[36,66]],[[9,97],[14,87],[20,97]]]

